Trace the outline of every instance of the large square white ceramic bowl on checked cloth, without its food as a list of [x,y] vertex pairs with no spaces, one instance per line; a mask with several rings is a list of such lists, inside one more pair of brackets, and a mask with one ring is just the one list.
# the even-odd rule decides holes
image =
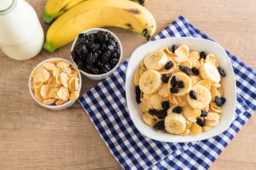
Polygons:
[[[173,135],[166,131],[161,133],[158,132],[155,128],[148,126],[144,122],[143,113],[139,110],[138,103],[135,100],[136,94],[135,86],[133,84],[135,70],[141,67],[140,64],[146,54],[164,47],[171,49],[173,44],[177,47],[180,44],[186,44],[189,46],[190,51],[197,50],[198,52],[204,51],[206,54],[215,54],[218,58],[219,66],[226,72],[226,76],[222,78],[223,82],[221,83],[222,87],[225,89],[223,97],[226,98],[226,102],[222,105],[223,112],[220,113],[220,122],[210,131],[202,131],[200,135],[189,134],[187,136],[180,136]],[[162,142],[192,142],[208,139],[227,130],[234,119],[236,109],[236,81],[234,71],[225,50],[213,41],[194,37],[173,37],[152,41],[139,46],[130,57],[126,71],[126,100],[132,122],[143,135],[151,139]]]

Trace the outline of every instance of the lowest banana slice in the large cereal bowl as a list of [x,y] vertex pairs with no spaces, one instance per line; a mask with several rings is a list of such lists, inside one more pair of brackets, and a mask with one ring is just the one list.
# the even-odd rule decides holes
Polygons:
[[[168,109],[168,111],[169,110],[171,109]],[[167,132],[179,135],[186,129],[186,119],[181,114],[167,113],[167,116],[164,119],[164,126]]]

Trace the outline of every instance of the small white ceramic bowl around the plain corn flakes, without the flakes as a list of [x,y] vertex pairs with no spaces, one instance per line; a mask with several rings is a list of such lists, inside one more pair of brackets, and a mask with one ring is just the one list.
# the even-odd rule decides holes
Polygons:
[[[74,66],[74,64],[71,63],[71,62],[68,61],[68,60],[61,59],[61,58],[52,58],[52,59],[47,59],[47,60],[45,60],[45,61],[42,61],[41,63],[39,63],[38,65],[36,65],[36,67],[33,69],[33,71],[34,71],[36,68],[38,68],[40,65],[42,65],[43,63],[45,63],[45,62],[47,62],[47,61],[49,61],[49,60],[55,60],[55,59],[56,59],[56,60],[67,61],[67,62],[70,63],[70,65]],[[33,71],[32,71],[32,72],[33,72]],[[62,105],[45,105],[45,104],[43,104],[42,102],[40,102],[40,101],[36,98],[34,92],[32,91],[32,89],[31,89],[31,87],[30,87],[30,82],[32,81],[32,72],[31,72],[31,74],[30,74],[30,76],[29,76],[29,92],[30,92],[31,96],[34,98],[34,100],[35,100],[40,106],[45,107],[45,108],[48,108],[48,109],[52,109],[52,110],[64,110],[64,109],[67,109],[67,108],[71,107],[72,105],[74,105],[74,103],[76,102],[76,100],[69,100],[69,101],[67,101],[66,103],[62,104]],[[81,78],[80,72],[78,72],[78,77],[79,77],[79,89],[77,90],[77,92],[80,93],[80,92],[81,92],[81,87],[82,87],[82,78]]]

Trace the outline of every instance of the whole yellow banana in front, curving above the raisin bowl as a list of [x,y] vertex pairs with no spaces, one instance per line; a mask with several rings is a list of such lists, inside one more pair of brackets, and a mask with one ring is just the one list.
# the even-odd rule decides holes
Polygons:
[[86,0],[58,17],[49,27],[44,48],[50,53],[89,28],[115,26],[146,37],[156,31],[153,15],[130,0]]

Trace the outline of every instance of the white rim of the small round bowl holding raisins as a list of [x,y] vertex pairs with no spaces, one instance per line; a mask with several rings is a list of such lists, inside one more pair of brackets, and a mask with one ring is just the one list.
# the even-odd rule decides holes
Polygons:
[[[121,59],[122,59],[122,56],[123,56],[123,48],[122,48],[122,44],[121,44],[121,41],[119,40],[119,38],[111,31],[105,29],[105,28],[90,28],[90,29],[87,29],[81,33],[87,33],[87,34],[90,34],[90,33],[97,33],[98,31],[104,31],[104,32],[109,32],[110,35],[112,37],[114,37],[115,39],[117,39],[117,46],[119,47],[119,51],[120,51],[120,56],[119,56],[119,61],[118,63],[115,65],[114,68],[112,68],[111,70],[109,70],[108,72],[104,73],[104,74],[89,74],[81,69],[80,72],[82,74],[84,74],[85,76],[88,76],[88,77],[92,77],[92,78],[98,78],[98,77],[104,77],[104,76],[108,76],[108,74],[110,72],[114,72],[116,70],[117,67],[119,67],[120,63],[121,63]],[[81,34],[79,33],[79,34]],[[78,40],[78,36],[76,37],[76,39],[74,39],[73,43],[72,43],[72,46],[71,46],[71,52],[74,50],[74,47],[76,46],[76,42]],[[72,56],[71,56],[71,59],[72,59]],[[73,61],[72,59],[72,62],[74,63],[75,67],[78,69],[78,65],[76,64],[76,62]]]

